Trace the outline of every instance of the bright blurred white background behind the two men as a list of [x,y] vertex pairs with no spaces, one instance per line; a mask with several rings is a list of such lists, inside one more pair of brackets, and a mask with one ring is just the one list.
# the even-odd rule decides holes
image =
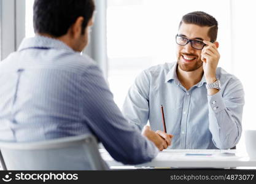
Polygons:
[[[0,0],[0,57],[34,36],[34,0]],[[256,2],[254,0],[96,0],[90,55],[101,67],[114,100],[122,107],[136,75],[150,66],[176,61],[175,36],[182,15],[201,10],[219,22],[219,66],[236,75],[246,93],[243,129],[256,129]],[[237,146],[245,151],[244,136]]]

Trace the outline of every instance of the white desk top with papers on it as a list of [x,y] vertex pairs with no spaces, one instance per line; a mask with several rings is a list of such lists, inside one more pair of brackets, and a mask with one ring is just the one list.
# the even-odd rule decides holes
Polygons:
[[[100,149],[101,156],[111,168],[125,166],[115,161],[106,150]],[[211,154],[187,156],[186,153]],[[235,155],[223,154],[235,153]],[[164,150],[149,163],[139,164],[136,167],[179,167],[179,168],[230,168],[256,167],[256,159],[247,155],[239,155],[236,150]],[[129,167],[127,167],[129,168]]]

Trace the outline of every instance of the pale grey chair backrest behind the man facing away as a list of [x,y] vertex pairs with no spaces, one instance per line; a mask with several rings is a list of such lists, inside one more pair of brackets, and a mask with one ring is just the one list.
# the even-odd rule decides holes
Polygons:
[[91,134],[43,142],[0,142],[6,170],[107,170]]

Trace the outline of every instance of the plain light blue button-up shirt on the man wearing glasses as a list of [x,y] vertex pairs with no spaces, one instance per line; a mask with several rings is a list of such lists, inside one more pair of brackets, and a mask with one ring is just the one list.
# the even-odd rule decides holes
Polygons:
[[241,82],[222,68],[217,79],[219,93],[208,96],[206,80],[186,90],[177,79],[176,63],[150,67],[131,86],[123,114],[142,128],[149,120],[153,130],[163,131],[160,105],[165,112],[166,131],[173,134],[174,149],[227,149],[234,147],[242,132],[244,90]]

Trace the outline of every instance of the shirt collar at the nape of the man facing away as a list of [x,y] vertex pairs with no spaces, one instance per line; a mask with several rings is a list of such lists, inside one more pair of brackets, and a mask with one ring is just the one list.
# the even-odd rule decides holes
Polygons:
[[61,40],[53,39],[45,36],[39,36],[39,35],[23,39],[20,44],[20,47],[18,48],[18,51],[24,50],[26,48],[31,48],[31,47],[32,48],[42,47],[42,48],[65,49],[65,50],[75,52],[74,50],[72,50],[71,47],[64,44],[64,42],[61,42]]

